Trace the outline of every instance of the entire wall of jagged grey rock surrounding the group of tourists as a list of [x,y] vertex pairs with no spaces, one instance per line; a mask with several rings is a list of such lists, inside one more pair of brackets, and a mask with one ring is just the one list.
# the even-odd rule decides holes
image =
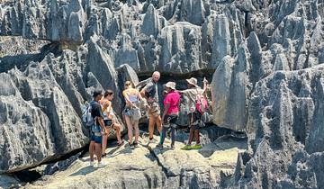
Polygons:
[[[324,139],[323,10],[321,0],[4,1],[0,150],[15,160],[0,160],[0,172],[82,147],[80,104],[94,88],[120,94],[126,79],[138,82],[135,73],[190,76],[203,69],[215,70],[213,122],[249,137],[235,175],[221,186],[324,187],[316,163]],[[36,138],[31,144],[39,151],[19,147]]]

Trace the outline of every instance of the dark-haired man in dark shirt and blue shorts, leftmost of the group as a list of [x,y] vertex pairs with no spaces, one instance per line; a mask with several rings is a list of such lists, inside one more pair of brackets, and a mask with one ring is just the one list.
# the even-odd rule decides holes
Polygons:
[[[93,94],[94,100],[90,103],[91,105],[91,115],[94,119],[94,124],[91,127],[91,141],[89,146],[90,153],[90,166],[94,166],[94,154],[98,159],[98,167],[104,166],[102,163],[102,140],[103,134],[107,134],[106,129],[104,128],[103,122],[103,112],[102,107],[99,103],[100,99],[102,99],[103,94],[101,90],[94,90]],[[104,104],[103,108],[107,108],[107,104]]]

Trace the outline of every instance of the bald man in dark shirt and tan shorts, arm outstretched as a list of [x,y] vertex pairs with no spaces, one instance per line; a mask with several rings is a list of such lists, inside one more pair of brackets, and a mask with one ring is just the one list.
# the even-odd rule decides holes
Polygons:
[[154,126],[157,125],[158,132],[161,132],[161,115],[158,104],[157,82],[160,78],[158,71],[153,72],[151,78],[148,78],[148,83],[140,90],[140,94],[146,98],[148,102],[148,143],[153,142]]

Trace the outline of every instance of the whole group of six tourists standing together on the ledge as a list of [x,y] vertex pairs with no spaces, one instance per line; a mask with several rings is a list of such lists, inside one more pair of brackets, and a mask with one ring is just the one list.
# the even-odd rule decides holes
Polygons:
[[[154,141],[154,129],[160,133],[160,139],[157,148],[163,148],[166,139],[167,130],[170,130],[171,146],[175,148],[175,134],[177,129],[177,119],[180,112],[181,96],[186,96],[188,107],[187,116],[190,127],[190,134],[185,150],[193,148],[202,148],[200,144],[199,128],[202,124],[202,115],[208,109],[205,98],[207,80],[203,80],[203,88],[197,85],[197,79],[192,77],[186,79],[188,88],[185,90],[176,90],[175,82],[167,82],[163,91],[163,112],[159,105],[157,82],[160,78],[159,72],[154,72],[152,77],[133,85],[130,81],[124,84],[122,96],[125,99],[125,109],[121,112],[123,120],[128,128],[128,146],[135,148],[139,145],[139,120],[142,117],[142,111],[148,112],[148,144]],[[89,146],[90,164],[94,166],[94,154],[98,160],[98,167],[103,166],[101,158],[106,156],[107,138],[111,130],[115,130],[118,145],[121,146],[124,140],[121,139],[121,124],[113,112],[112,99],[113,91],[95,90],[93,101],[89,104],[85,112],[87,125],[91,126],[91,142]],[[133,134],[134,130],[134,134]],[[135,138],[133,140],[133,135]],[[192,146],[193,139],[196,143]]]

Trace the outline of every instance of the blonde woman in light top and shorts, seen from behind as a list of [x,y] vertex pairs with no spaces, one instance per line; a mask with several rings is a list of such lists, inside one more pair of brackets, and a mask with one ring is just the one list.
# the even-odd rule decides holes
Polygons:
[[[139,110],[139,101],[142,100],[139,90],[132,87],[130,81],[125,82],[125,90],[122,92],[125,98],[126,106],[122,114],[125,116],[125,121],[128,128],[129,145],[136,147],[139,140],[139,119],[141,113]],[[132,130],[135,130],[135,141],[132,143]]]

